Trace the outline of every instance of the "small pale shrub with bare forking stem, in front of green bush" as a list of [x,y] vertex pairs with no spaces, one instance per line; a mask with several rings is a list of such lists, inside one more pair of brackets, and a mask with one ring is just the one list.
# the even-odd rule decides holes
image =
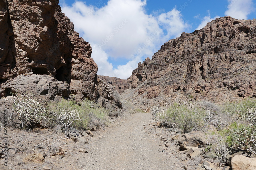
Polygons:
[[80,120],[79,110],[76,103],[71,100],[62,99],[59,103],[54,103],[50,107],[51,113],[56,116],[59,122],[65,127],[65,136],[68,135],[68,128],[75,120]]

